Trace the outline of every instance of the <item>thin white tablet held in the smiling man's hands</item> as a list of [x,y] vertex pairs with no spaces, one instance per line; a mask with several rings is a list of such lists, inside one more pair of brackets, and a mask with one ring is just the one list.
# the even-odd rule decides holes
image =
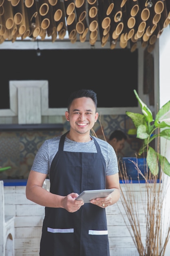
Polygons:
[[76,200],[83,200],[84,203],[90,203],[92,199],[105,198],[114,190],[115,189],[84,190],[81,194],[79,194],[79,196],[77,196]]

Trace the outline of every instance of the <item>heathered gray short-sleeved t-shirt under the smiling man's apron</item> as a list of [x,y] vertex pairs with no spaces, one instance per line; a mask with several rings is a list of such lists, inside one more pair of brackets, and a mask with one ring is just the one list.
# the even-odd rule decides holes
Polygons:
[[[58,151],[60,138],[61,135],[44,141],[35,155],[31,170],[49,175],[51,163]],[[118,173],[117,155],[113,147],[102,139],[95,139],[97,140],[106,161],[106,175]],[[88,142],[76,142],[67,137],[64,141],[64,151],[97,153],[94,140]]]

